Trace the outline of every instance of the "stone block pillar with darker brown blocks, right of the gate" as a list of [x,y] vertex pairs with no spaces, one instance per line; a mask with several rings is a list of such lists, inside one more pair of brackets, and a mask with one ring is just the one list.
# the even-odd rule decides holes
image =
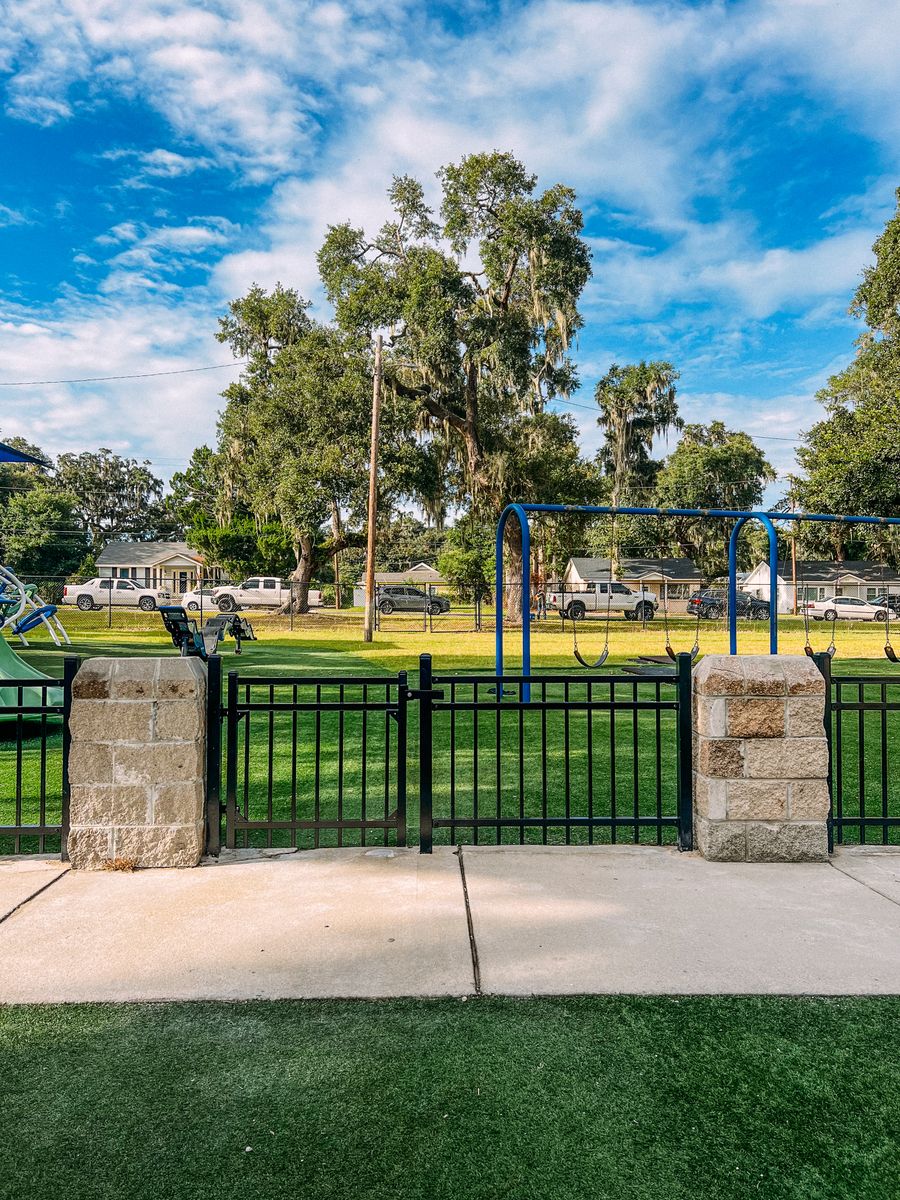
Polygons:
[[710,654],[694,671],[694,845],[718,862],[828,857],[824,679],[808,658]]

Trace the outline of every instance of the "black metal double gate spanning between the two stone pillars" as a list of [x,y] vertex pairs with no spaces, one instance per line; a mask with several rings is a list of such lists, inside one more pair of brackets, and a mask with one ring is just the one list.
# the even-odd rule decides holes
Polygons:
[[[691,847],[689,655],[640,674],[262,677],[210,660],[209,838],[228,847]],[[408,712],[418,722],[408,739]],[[224,754],[217,734],[224,733]],[[221,764],[224,762],[224,787]],[[223,797],[223,803],[221,799]]]

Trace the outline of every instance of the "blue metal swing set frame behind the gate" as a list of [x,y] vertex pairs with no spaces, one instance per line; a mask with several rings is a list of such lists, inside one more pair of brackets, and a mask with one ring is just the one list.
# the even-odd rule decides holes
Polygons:
[[[522,595],[528,595],[532,576],[532,538],[528,518],[536,512],[580,512],[592,516],[648,516],[648,517],[700,517],[701,520],[733,521],[728,539],[728,653],[738,653],[737,626],[737,569],[738,539],[740,530],[749,521],[758,521],[769,539],[769,654],[778,654],[778,536],[776,521],[816,521],[840,522],[844,524],[900,526],[900,517],[841,516],[833,512],[769,512],[746,511],[743,509],[655,509],[625,508],[600,504],[508,504],[497,522],[496,540],[496,594],[497,594],[497,632],[494,672],[503,674],[503,535],[506,522],[515,517],[522,530]],[[672,654],[671,647],[666,646]],[[890,658],[890,655],[888,655]],[[893,661],[893,659],[892,659]],[[522,674],[532,673],[532,630],[530,622],[522,622]],[[523,689],[524,692],[524,689]],[[523,698],[527,698],[523,694]]]

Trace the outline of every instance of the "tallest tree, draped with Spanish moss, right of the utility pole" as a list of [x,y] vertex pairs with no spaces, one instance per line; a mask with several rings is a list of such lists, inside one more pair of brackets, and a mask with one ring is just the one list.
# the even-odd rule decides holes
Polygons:
[[468,155],[438,178],[439,221],[421,184],[397,178],[392,218],[371,239],[332,226],[319,271],[342,329],[390,329],[386,390],[398,419],[452,458],[448,498],[494,520],[528,482],[518,445],[541,434],[528,422],[577,382],[569,346],[589,251],[572,191],[538,192],[510,154]]

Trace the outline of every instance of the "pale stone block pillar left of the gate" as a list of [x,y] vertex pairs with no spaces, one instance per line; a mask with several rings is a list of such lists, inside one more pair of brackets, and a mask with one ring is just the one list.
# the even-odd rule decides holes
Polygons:
[[199,659],[89,659],[72,685],[70,730],[72,865],[196,866],[205,823]]

